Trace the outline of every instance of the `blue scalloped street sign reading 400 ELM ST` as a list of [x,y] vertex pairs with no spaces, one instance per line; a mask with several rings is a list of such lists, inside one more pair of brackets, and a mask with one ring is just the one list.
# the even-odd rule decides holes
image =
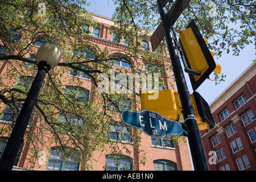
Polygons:
[[163,138],[166,135],[185,136],[184,132],[186,133],[183,122],[166,119],[159,113],[150,110],[123,110],[121,118],[127,125],[137,127],[151,137]]

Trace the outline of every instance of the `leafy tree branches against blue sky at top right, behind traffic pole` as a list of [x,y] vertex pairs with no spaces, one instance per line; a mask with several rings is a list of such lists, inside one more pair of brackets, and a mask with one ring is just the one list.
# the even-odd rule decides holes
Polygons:
[[[114,0],[114,3],[116,10],[113,18],[118,19],[119,26],[124,22],[154,31],[160,23],[156,1]],[[173,3],[174,1],[167,3],[166,13]],[[214,50],[216,57],[220,57],[224,51],[239,56],[241,49],[246,45],[254,44],[256,47],[255,7],[254,1],[250,0],[192,0],[174,27],[184,30],[190,20],[194,19],[201,34],[208,39],[208,46]],[[158,47],[160,46],[165,44]],[[223,73],[221,76],[214,73],[214,76],[216,84],[225,81]]]

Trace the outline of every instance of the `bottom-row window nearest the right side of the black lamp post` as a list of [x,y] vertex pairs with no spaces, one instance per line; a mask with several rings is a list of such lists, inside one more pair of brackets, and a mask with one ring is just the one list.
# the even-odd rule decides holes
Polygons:
[[58,151],[57,147],[52,147],[47,163],[47,170],[78,171],[79,163],[76,163],[75,160],[71,158],[65,158],[62,151]]

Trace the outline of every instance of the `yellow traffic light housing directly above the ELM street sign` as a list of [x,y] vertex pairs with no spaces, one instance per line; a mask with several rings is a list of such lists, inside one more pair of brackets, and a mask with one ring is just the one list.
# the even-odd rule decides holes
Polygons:
[[[155,100],[148,99],[148,96],[158,93],[158,98]],[[161,114],[166,119],[178,121],[180,111],[180,101],[177,92],[174,90],[159,90],[154,92],[142,93],[141,95],[141,110],[151,110]]]

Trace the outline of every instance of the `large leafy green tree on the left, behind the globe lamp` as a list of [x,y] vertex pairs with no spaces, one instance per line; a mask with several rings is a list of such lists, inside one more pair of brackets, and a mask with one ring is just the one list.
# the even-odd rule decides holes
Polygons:
[[[36,74],[38,47],[47,42],[56,42],[61,50],[61,61],[46,76],[24,137],[23,153],[30,155],[27,168],[34,167],[41,157],[40,151],[46,147],[50,151],[53,145],[56,146],[54,151],[59,151],[63,158],[71,158],[90,169],[89,161],[96,160],[93,151],[108,151],[111,154],[125,151],[129,156],[131,151],[127,143],[133,141],[134,152],[139,154],[134,168],[139,162],[144,162],[144,151],[139,149],[141,131],[127,127],[117,117],[124,107],[132,110],[140,107],[140,93],[100,93],[97,90],[100,83],[98,76],[105,73],[109,79],[112,66],[117,63],[130,67],[129,71],[120,67],[115,70],[117,72],[128,74],[131,69],[138,71],[141,65],[131,64],[127,58],[136,62],[138,59],[154,60],[160,55],[144,51],[139,43],[142,40],[141,32],[146,36],[147,30],[139,27],[133,30],[128,25],[125,28],[129,31],[118,29],[118,35],[125,35],[129,45],[122,55],[113,56],[108,48],[94,46],[88,26],[97,27],[100,24],[85,10],[86,6],[86,1],[46,1],[43,5],[41,1],[1,2],[0,59],[5,68],[1,71],[0,81],[1,119],[10,121],[2,123],[1,137],[11,133],[27,96]],[[116,27],[113,27],[115,30]],[[134,31],[137,34],[134,35]],[[160,58],[161,61],[168,59],[166,56]],[[152,68],[152,71],[154,69],[157,68]],[[67,76],[67,73],[73,77]],[[84,82],[80,77],[91,80],[91,90],[83,88]],[[93,98],[89,97],[90,92],[94,93]],[[129,102],[126,102],[127,98]],[[117,134],[114,140],[113,131]],[[127,141],[122,142],[123,139]]]

